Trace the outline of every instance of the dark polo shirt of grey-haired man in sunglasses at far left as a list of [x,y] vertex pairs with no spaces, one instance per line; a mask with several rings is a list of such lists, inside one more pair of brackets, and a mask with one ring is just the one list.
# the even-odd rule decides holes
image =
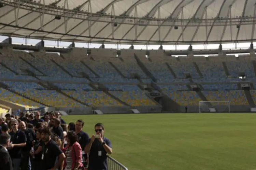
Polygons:
[[[25,143],[27,141],[26,135],[24,132],[18,130],[16,133],[10,132],[11,135],[11,142],[13,144],[19,144],[19,143]],[[21,158],[21,153],[22,153],[21,147],[13,147],[12,149],[9,150],[9,154],[11,158]]]

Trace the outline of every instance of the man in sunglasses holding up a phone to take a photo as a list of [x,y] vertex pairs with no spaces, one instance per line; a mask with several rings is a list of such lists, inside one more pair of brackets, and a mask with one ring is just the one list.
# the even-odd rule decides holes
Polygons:
[[90,143],[86,145],[84,152],[89,153],[88,170],[107,170],[107,154],[112,154],[111,141],[104,137],[104,125],[97,123],[96,134],[90,138]]

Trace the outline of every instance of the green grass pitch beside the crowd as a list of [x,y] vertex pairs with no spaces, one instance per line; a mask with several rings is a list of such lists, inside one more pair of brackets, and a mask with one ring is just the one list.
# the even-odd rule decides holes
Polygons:
[[113,156],[129,170],[256,170],[256,114],[63,116],[105,125]]

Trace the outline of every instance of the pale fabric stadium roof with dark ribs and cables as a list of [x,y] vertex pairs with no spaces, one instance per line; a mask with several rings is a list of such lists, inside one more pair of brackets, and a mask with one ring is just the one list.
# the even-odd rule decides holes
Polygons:
[[255,0],[0,0],[0,35],[113,44],[256,40]]

